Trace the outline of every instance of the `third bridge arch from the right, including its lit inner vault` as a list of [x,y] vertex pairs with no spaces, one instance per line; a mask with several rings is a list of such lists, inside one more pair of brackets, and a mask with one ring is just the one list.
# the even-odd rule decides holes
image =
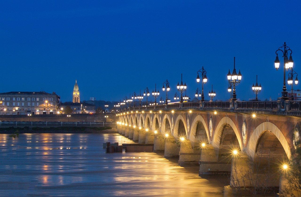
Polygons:
[[[206,139],[204,139],[205,135],[206,135]],[[199,139],[199,138],[203,138],[203,139]],[[209,144],[210,142],[208,127],[201,115],[197,115],[191,124],[189,140],[192,146],[194,146],[194,143],[196,142],[206,143],[206,144]]]

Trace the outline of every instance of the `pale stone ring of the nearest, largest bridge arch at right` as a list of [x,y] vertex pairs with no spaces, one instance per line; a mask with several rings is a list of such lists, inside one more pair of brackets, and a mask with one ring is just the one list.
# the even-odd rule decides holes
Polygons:
[[291,150],[287,140],[285,139],[280,129],[271,122],[263,122],[260,125],[258,125],[253,131],[247,144],[248,155],[250,155],[251,158],[255,157],[256,147],[258,146],[259,138],[265,131],[270,131],[277,137],[287,155],[287,158],[291,159]]

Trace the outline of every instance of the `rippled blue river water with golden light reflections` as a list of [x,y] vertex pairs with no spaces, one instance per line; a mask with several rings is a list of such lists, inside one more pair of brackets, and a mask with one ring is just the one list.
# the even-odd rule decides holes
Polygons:
[[222,196],[225,176],[153,152],[105,153],[119,134],[0,134],[0,196]]

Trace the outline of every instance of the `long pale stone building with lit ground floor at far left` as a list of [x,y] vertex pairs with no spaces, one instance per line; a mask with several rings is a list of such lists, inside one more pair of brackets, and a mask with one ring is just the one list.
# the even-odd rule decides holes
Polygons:
[[60,97],[55,92],[0,93],[1,115],[54,114]]

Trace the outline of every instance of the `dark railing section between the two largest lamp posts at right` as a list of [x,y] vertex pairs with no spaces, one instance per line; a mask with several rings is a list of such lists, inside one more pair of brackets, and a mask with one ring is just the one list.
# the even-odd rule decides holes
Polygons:
[[277,110],[277,101],[237,101],[236,109],[273,109],[273,110]]

